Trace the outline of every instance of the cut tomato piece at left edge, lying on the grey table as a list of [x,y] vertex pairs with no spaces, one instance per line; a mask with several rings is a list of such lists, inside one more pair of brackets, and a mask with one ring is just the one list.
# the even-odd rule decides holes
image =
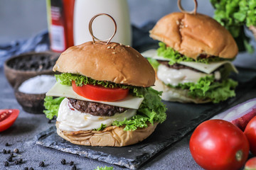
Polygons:
[[18,118],[18,109],[1,109],[0,110],[0,132],[11,127],[16,118]]

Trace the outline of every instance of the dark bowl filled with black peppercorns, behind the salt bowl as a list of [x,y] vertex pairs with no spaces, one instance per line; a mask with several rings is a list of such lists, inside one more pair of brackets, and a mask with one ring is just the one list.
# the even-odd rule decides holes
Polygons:
[[12,87],[41,74],[54,74],[53,66],[60,56],[55,52],[29,52],[4,62],[4,74]]

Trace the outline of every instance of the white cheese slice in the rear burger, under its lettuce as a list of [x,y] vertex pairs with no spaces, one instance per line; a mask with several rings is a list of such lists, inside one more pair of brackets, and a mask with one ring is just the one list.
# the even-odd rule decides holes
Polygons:
[[[154,49],[147,50],[146,52],[142,52],[142,55],[144,57],[150,57],[155,60],[169,61],[169,59],[166,59],[162,56],[157,55],[157,51]],[[235,66],[233,65],[233,63],[230,61],[210,62],[209,64],[205,64],[205,63],[201,63],[201,62],[180,62],[179,64],[183,64],[188,67],[198,69],[199,71],[205,72],[207,74],[212,73],[215,69],[218,69],[218,67],[221,67],[224,64],[229,64],[230,67],[233,69],[233,71],[235,73],[238,73],[238,69],[236,69]]]

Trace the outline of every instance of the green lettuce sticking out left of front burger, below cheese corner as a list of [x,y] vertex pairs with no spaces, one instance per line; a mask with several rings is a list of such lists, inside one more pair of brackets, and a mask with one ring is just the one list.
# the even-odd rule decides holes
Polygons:
[[63,97],[53,98],[52,96],[46,96],[43,103],[43,106],[46,108],[43,111],[46,114],[46,118],[51,120],[54,116],[58,116],[58,109],[63,99]]

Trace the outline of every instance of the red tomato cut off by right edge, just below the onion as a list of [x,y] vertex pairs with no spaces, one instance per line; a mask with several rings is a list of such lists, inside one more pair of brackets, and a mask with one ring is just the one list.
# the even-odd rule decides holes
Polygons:
[[250,152],[256,156],[256,116],[246,125],[244,133],[250,143]]

